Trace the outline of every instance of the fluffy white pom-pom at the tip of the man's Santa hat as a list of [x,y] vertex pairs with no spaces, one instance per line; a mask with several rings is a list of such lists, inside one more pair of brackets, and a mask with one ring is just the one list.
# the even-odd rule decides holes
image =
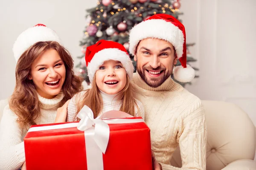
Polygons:
[[183,68],[181,65],[177,66],[173,70],[174,78],[179,82],[190,82],[195,77],[195,70],[190,66],[186,65]]

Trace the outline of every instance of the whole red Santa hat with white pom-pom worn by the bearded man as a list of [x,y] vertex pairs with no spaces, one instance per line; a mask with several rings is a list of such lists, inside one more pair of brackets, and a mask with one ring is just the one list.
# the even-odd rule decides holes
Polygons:
[[179,82],[190,82],[195,77],[194,69],[186,64],[186,33],[179,20],[168,14],[155,14],[130,31],[131,54],[135,54],[138,43],[146,38],[158,38],[170,42],[181,65],[174,68],[174,78]]

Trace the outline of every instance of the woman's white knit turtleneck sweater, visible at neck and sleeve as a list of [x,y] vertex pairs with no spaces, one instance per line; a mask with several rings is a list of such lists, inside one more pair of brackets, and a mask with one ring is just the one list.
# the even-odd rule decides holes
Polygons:
[[[62,92],[53,99],[45,99],[38,94],[42,108],[41,115],[35,119],[35,123],[54,123],[58,104],[63,97]],[[7,105],[0,122],[0,170],[17,170],[25,161],[23,138],[27,130],[20,129],[16,120],[17,115]]]

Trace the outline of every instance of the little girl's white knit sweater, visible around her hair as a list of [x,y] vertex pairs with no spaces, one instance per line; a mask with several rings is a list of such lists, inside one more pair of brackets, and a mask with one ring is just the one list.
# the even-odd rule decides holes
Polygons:
[[[84,94],[85,94],[85,91],[81,91],[79,94],[76,94],[75,96],[73,96],[73,98],[70,100],[70,103],[68,104],[68,107],[67,107],[67,119],[66,119],[67,122],[73,122],[77,120],[77,117],[76,117],[77,104],[83,100]],[[102,96],[102,100],[103,100],[103,108],[99,115],[107,111],[120,110],[122,103],[116,100],[115,98],[116,95],[105,94],[102,91],[100,91],[100,95]],[[144,119],[145,114],[144,114],[143,104],[137,99],[136,99],[136,102],[140,110],[140,115],[139,115],[139,112],[137,111],[137,107],[135,107],[136,116],[141,116]]]

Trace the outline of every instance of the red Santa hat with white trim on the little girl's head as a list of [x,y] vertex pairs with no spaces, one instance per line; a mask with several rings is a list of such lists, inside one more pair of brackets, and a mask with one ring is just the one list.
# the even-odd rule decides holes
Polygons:
[[99,66],[111,59],[120,61],[129,78],[132,79],[134,66],[125,47],[118,42],[99,40],[95,45],[86,48],[85,62],[90,82],[93,82],[94,74]]

